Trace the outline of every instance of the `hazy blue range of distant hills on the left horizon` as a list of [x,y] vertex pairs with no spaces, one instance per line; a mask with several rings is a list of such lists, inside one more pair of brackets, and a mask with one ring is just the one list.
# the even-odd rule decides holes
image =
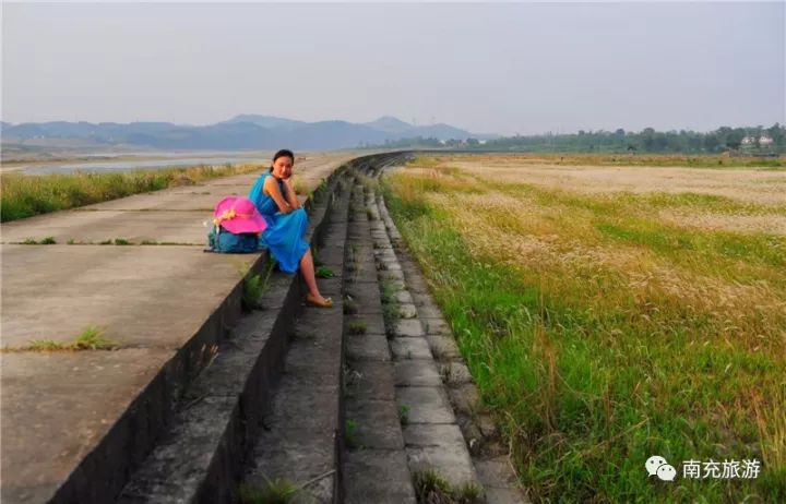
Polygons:
[[385,116],[367,123],[347,121],[303,122],[273,116],[240,115],[209,125],[170,122],[28,122],[2,123],[4,144],[49,146],[81,144],[134,146],[159,149],[295,149],[353,148],[402,139],[464,140],[486,137],[451,127],[415,127]]

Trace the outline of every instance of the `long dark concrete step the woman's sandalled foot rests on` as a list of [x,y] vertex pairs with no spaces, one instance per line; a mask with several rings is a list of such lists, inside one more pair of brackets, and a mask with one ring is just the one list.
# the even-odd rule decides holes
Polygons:
[[[369,166],[364,159],[355,164],[361,171]],[[341,200],[344,218],[332,218],[325,245],[319,253],[321,262],[337,274],[330,286],[321,283],[321,289],[333,297],[335,305],[332,310],[306,308],[295,323],[281,383],[263,419],[265,430],[257,440],[243,476],[241,492],[248,502],[269,502],[283,495],[295,503],[343,502],[343,483],[357,481],[357,475],[352,472],[345,479],[344,470],[353,465],[379,463],[374,458],[353,458],[346,464],[342,460],[347,453],[345,415],[356,415],[354,405],[345,407],[343,403],[344,352],[350,351],[348,333],[359,331],[365,313],[361,309],[345,315],[342,293],[349,273],[353,281],[368,277],[362,267],[347,267],[347,257],[354,257],[356,252],[349,243],[358,236],[358,216],[349,203],[349,197]],[[382,331],[382,323],[366,322],[364,327],[371,334]],[[373,475],[369,476],[372,480]]]

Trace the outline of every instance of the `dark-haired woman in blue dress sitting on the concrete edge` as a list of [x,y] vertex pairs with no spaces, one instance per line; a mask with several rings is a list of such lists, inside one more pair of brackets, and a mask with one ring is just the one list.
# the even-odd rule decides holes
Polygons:
[[249,193],[267,228],[261,240],[278,261],[283,272],[300,274],[306,280],[308,293],[306,301],[315,307],[330,308],[333,301],[324,298],[317,287],[313,256],[308,242],[303,239],[308,230],[308,215],[300,206],[291,185],[295,154],[288,149],[278,151],[273,156],[270,172],[262,173]]

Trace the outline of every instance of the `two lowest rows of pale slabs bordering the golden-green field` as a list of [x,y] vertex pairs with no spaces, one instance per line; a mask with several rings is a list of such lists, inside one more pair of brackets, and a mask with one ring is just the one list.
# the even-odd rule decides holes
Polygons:
[[400,319],[391,348],[398,364],[397,400],[410,405],[410,422],[404,429],[410,469],[433,467],[453,488],[476,483],[489,504],[528,503],[493,418],[483,407],[452,332],[384,200],[377,195],[367,203],[380,216],[372,226],[380,276],[386,275],[397,289]]

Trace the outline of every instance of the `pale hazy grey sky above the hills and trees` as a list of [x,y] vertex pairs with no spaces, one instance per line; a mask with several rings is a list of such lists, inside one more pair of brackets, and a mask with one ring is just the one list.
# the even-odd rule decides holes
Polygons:
[[2,7],[2,120],[786,122],[785,3]]

